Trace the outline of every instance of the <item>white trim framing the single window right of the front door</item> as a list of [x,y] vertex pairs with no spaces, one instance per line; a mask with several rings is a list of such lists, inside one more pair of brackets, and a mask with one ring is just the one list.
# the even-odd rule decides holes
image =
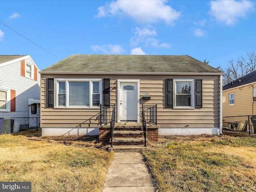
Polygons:
[[[176,82],[191,82],[191,106],[176,106]],[[194,79],[173,79],[173,108],[174,109],[195,109],[195,80]]]

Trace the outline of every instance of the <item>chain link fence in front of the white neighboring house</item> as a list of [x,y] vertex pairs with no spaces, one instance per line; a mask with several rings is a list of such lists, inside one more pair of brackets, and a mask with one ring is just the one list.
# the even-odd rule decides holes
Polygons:
[[39,127],[39,117],[0,117],[0,135]]

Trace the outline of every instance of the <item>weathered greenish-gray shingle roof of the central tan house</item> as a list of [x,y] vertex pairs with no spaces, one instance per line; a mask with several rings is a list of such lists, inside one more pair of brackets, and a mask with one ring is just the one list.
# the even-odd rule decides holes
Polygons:
[[42,72],[216,72],[188,55],[71,55]]

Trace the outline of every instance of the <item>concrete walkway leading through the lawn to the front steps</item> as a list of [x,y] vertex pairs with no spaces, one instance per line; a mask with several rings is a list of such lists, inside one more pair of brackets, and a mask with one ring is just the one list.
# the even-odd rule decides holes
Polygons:
[[154,192],[142,154],[115,152],[103,192]]

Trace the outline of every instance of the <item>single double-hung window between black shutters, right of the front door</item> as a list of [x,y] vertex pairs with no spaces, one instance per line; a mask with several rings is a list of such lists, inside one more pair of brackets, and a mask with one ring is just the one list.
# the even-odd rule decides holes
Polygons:
[[174,108],[194,108],[194,79],[174,79]]

